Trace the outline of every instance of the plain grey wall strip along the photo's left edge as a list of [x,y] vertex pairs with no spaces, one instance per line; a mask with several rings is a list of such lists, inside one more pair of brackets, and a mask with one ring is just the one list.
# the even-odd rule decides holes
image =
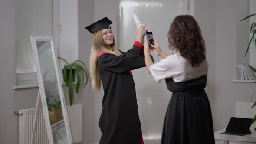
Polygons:
[[[3,143],[17,143],[11,138],[17,126],[13,116],[14,95],[12,86],[15,84],[15,18],[14,1],[3,0],[0,4],[0,140]],[[2,69],[4,68],[4,69]],[[16,135],[17,136],[17,135]]]

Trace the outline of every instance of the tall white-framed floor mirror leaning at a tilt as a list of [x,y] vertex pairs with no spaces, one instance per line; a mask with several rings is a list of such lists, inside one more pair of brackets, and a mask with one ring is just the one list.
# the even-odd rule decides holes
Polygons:
[[72,144],[53,36],[30,36],[49,144]]

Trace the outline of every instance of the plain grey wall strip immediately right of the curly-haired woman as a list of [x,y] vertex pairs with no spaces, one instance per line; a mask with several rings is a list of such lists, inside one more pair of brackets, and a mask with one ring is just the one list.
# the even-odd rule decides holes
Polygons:
[[[209,73],[206,92],[210,101],[213,126],[215,126],[215,91],[216,91],[216,1],[195,0],[194,16],[201,30],[206,44]],[[214,127],[215,129],[215,127]]]

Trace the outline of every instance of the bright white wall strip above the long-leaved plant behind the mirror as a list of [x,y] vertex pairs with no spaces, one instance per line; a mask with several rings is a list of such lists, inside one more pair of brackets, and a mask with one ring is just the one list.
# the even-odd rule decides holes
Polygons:
[[78,57],[77,7],[78,0],[59,0],[59,56],[69,63]]

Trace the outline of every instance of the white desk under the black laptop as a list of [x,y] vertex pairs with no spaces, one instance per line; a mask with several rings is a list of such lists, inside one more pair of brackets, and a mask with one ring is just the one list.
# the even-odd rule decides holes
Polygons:
[[[228,135],[228,134],[220,134],[226,131],[225,129],[222,129],[220,131],[214,132],[215,140],[223,140],[224,144],[229,144],[229,141],[240,141],[240,142],[256,142],[256,131],[251,131],[251,134],[247,134],[244,136],[238,136],[238,135]],[[249,143],[247,143],[249,144]]]

